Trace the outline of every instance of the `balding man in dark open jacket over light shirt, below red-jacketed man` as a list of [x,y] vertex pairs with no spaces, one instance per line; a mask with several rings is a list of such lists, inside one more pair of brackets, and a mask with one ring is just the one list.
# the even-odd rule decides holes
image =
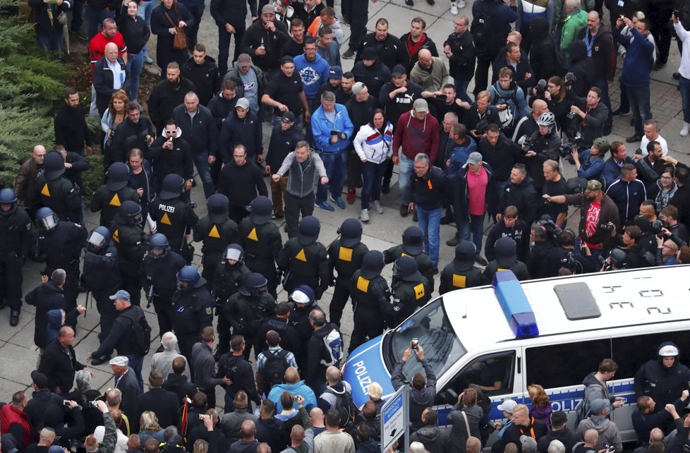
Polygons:
[[96,90],[96,108],[98,114],[103,116],[108,108],[114,92],[128,91],[131,80],[128,80],[127,65],[121,56],[118,56],[117,44],[109,42],[105,45],[105,52],[93,67],[93,87]]

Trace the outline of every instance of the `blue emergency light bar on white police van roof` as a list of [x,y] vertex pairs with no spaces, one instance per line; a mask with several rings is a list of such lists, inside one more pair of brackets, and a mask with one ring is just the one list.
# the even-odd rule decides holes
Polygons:
[[491,286],[501,305],[503,314],[516,338],[537,337],[539,328],[532,307],[512,270],[500,270]]

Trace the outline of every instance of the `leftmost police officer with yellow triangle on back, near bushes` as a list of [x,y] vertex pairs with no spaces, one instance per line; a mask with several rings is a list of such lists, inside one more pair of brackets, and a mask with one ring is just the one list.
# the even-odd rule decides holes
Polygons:
[[44,157],[43,169],[35,181],[36,204],[49,207],[60,220],[83,223],[84,206],[79,188],[63,176],[65,159],[59,152],[51,151]]

